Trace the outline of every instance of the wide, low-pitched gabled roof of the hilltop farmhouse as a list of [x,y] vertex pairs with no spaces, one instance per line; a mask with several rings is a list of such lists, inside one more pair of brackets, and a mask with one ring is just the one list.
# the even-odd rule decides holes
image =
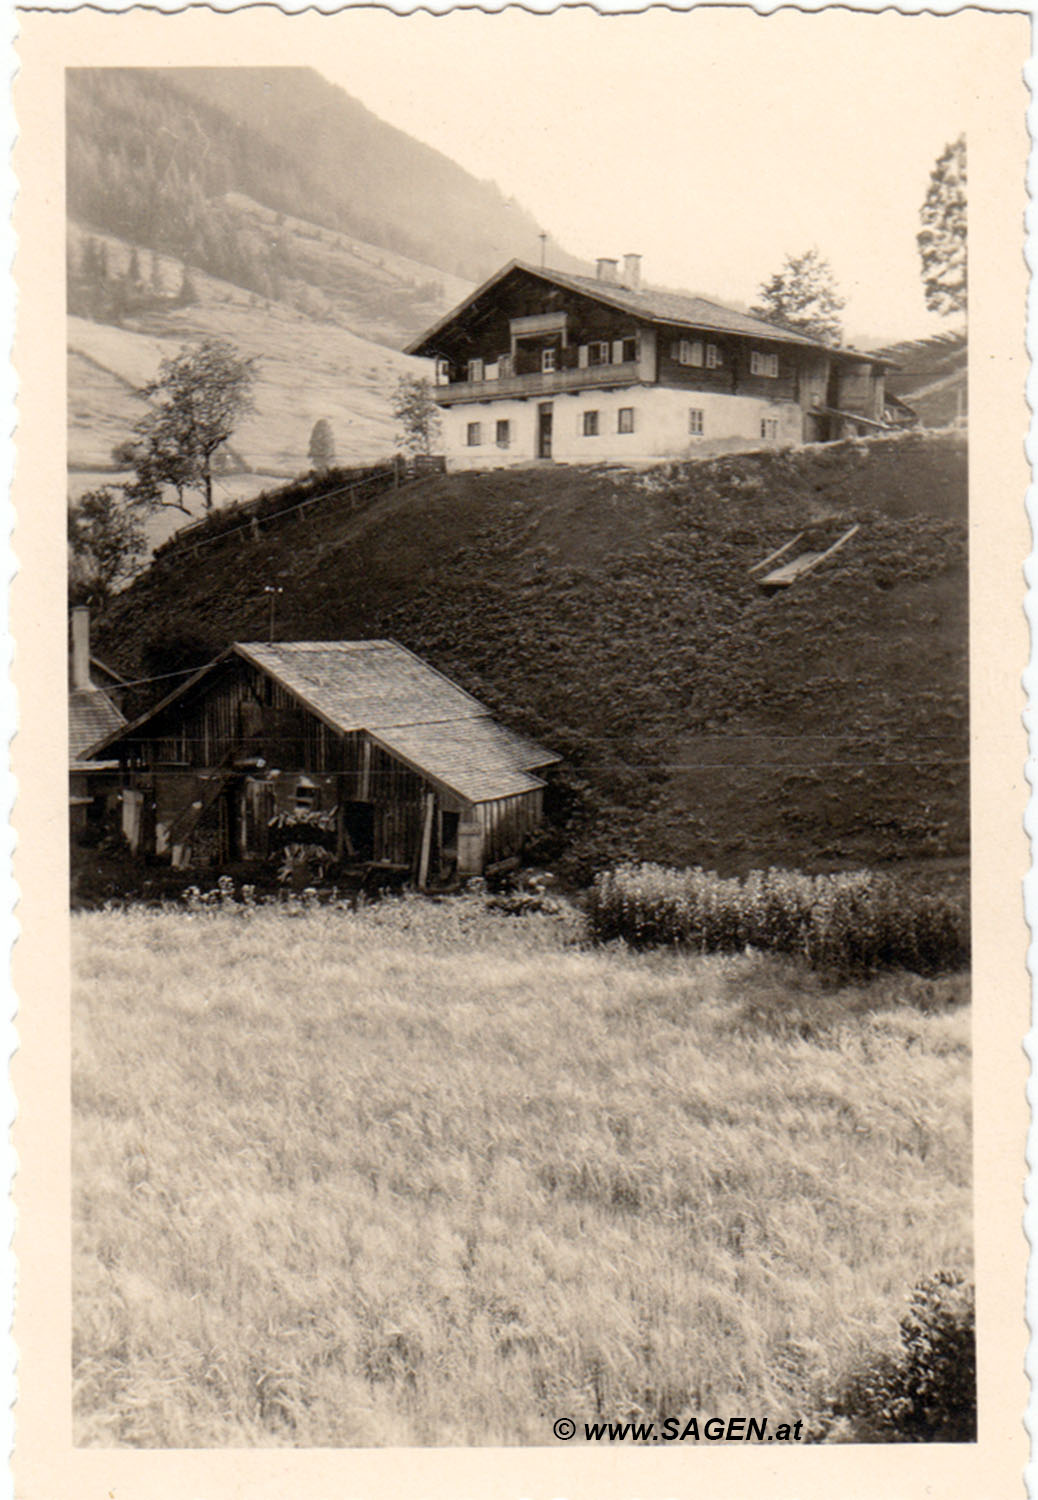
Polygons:
[[[478,302],[489,291],[510,276],[513,272],[526,272],[546,282],[549,286],[560,286],[564,291],[591,297],[594,302],[621,312],[630,312],[646,322],[670,324],[684,328],[702,328],[714,333],[746,333],[759,339],[771,339],[778,344],[795,344],[801,348],[825,350],[830,354],[843,354],[856,360],[868,360],[874,364],[886,364],[888,360],[873,354],[861,354],[858,350],[834,350],[820,339],[812,339],[804,333],[794,333],[768,322],[765,318],[754,318],[748,312],[736,312],[718,302],[708,302],[705,297],[688,297],[684,292],[654,291],[639,288],[638,291],[618,282],[604,282],[597,276],[573,276],[568,272],[556,272],[548,267],[528,266],[525,261],[508,261],[489,280],[477,286],[471,296],[460,302],[452,312],[435,322],[426,333],[406,346],[406,354],[420,354],[438,338],[456,318],[459,318],[472,303]],[[435,351],[430,351],[435,352]]]

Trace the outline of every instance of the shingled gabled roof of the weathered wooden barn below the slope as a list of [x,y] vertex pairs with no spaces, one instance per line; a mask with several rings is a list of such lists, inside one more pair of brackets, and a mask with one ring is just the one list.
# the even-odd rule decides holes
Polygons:
[[338,734],[366,730],[392,754],[471,802],[542,786],[530,772],[560,758],[495,723],[478,699],[396,640],[237,642],[94,753],[174,706],[231,657],[280,682]]

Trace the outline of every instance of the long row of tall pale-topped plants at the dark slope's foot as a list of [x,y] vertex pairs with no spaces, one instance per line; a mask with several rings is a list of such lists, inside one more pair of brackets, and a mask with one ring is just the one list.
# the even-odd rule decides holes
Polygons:
[[705,870],[621,864],[597,876],[588,915],[600,942],[622,938],[639,948],[675,945],[700,952],[765,948],[844,975],[936,974],[969,958],[962,903],[868,870],[816,876],[756,870],[738,880]]

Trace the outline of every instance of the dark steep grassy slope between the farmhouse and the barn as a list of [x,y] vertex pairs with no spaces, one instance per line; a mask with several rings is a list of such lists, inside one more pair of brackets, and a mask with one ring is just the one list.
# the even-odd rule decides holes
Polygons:
[[[765,597],[752,564],[855,540]],[[810,540],[810,532],[808,532]],[[140,676],[218,651],[394,636],[566,756],[542,848],[742,872],[968,855],[966,446],[908,435],[633,474],[444,476],[351,519],[153,568],[99,622]],[[195,657],[196,660],[196,657]]]

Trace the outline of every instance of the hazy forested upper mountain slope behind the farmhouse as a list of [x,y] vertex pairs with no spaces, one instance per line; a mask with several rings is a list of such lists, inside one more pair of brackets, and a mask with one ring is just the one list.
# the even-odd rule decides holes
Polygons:
[[[494,184],[380,120],[309,68],[69,69],[68,207],[122,238],[276,296],[228,194],[465,280],[532,258],[540,225]],[[549,242],[552,264],[579,262]]]

